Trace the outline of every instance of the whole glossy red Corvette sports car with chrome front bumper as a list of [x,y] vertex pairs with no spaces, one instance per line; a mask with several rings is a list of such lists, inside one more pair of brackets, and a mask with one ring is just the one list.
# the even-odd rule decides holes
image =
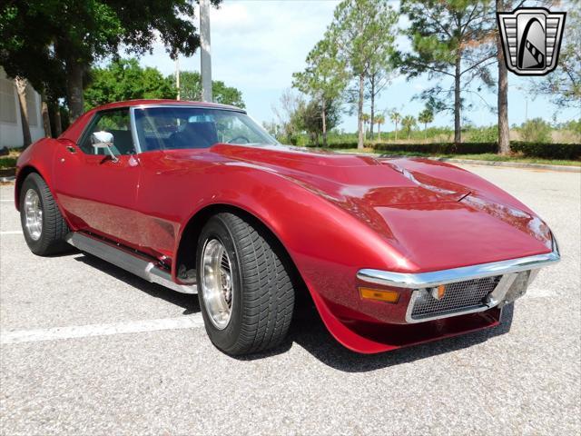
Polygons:
[[284,146],[220,104],[89,111],[20,156],[15,203],[33,253],[72,244],[198,292],[230,354],[280,343],[301,289],[356,352],[495,326],[559,260],[547,224],[475,174]]

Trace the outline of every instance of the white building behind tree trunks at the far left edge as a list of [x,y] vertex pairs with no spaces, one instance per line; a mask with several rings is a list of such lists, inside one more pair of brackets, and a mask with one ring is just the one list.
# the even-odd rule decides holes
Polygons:
[[[30,85],[26,90],[26,105],[30,136],[34,142],[44,136],[44,127],[40,95]],[[22,121],[15,82],[6,76],[4,68],[0,66],[0,149],[22,147],[23,144]]]

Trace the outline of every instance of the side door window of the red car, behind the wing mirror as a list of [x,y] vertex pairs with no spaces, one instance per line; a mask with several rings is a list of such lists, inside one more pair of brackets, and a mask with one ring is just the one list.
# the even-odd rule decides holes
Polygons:
[[114,154],[135,154],[128,108],[97,113],[83,135],[79,147],[84,153],[105,154],[103,148],[94,148],[93,146],[91,136],[95,132],[113,134],[112,150]]

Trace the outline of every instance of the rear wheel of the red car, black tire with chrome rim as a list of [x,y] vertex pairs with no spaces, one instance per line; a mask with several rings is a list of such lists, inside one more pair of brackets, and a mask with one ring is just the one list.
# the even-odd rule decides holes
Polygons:
[[39,256],[62,253],[70,247],[64,238],[69,227],[53,194],[37,173],[30,173],[20,189],[20,223],[28,248]]

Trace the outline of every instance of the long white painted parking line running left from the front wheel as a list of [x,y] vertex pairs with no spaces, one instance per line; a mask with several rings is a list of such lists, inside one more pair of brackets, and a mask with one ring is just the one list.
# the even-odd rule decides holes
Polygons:
[[0,344],[19,342],[59,341],[64,339],[108,336],[123,333],[156,332],[161,330],[192,329],[203,326],[202,314],[160,320],[115,322],[111,324],[74,325],[53,329],[19,330],[0,332]]

